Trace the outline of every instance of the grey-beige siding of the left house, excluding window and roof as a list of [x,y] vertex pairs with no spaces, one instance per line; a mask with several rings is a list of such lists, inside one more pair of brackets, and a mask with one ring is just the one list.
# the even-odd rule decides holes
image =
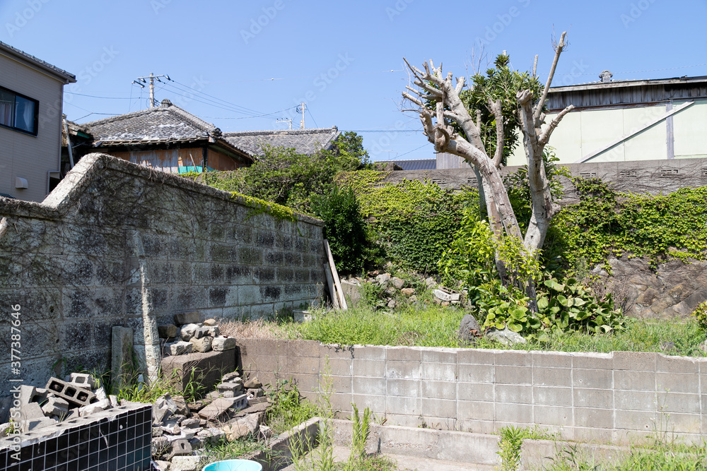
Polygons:
[[[63,84],[0,54],[0,86],[40,102],[36,137],[0,128],[0,193],[42,201],[47,196],[47,172],[59,170]],[[15,177],[27,179],[28,189],[15,189]]]

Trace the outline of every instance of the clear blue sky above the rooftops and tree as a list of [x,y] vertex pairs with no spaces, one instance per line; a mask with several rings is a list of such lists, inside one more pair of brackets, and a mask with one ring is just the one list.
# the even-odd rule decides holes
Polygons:
[[0,18],[0,41],[76,74],[71,120],[146,108],[132,81],[152,72],[174,80],[157,100],[223,131],[286,129],[278,118],[296,129],[304,101],[306,127],[358,131],[373,160],[433,157],[416,116],[399,111],[403,56],[467,75],[483,45],[484,68],[503,50],[522,70],[539,54],[543,76],[553,31],[567,30],[554,85],[604,69],[707,75],[707,0],[0,0]]

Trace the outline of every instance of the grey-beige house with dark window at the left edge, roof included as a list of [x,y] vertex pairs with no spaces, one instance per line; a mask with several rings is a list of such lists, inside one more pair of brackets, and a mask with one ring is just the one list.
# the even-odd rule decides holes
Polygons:
[[60,179],[64,85],[74,82],[0,42],[0,196],[42,201]]

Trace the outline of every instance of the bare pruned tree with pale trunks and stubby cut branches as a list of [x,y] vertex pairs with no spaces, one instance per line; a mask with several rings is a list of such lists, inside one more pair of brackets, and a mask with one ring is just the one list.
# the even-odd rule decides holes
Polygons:
[[[542,249],[552,217],[559,212],[559,205],[554,203],[550,193],[549,179],[542,158],[543,150],[552,131],[574,108],[573,105],[566,107],[547,126],[543,126],[544,103],[560,54],[566,47],[565,36],[566,32],[563,32],[554,47],[555,56],[542,96],[534,100],[531,90],[521,90],[517,95],[532,195],[532,218],[525,236],[520,231],[499,170],[503,160],[504,143],[501,101],[494,102],[489,99],[486,105],[496,117],[496,151],[494,155],[489,155],[481,140],[479,111],[467,109],[460,99],[464,78],[453,81],[451,72],[444,76],[442,67],[436,68],[432,61],[423,64],[424,70],[421,70],[405,59],[414,78],[412,82],[417,87],[408,85],[408,92],[402,94],[405,99],[416,105],[416,108],[406,111],[419,113],[424,133],[435,145],[437,152],[458,155],[474,167],[483,183],[480,191],[484,194],[481,196],[486,199],[489,222],[496,234],[502,230],[507,237],[517,237],[522,241],[526,253],[536,257],[539,249]],[[454,124],[457,129],[462,130],[461,133],[455,131]],[[499,266],[498,261],[496,265]]]

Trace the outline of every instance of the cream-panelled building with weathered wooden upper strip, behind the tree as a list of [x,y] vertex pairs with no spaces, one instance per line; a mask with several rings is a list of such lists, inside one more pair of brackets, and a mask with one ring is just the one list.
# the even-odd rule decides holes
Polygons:
[[[707,157],[707,76],[600,81],[550,89],[549,123],[568,113],[549,145],[563,164]],[[524,165],[521,145],[508,165]]]

